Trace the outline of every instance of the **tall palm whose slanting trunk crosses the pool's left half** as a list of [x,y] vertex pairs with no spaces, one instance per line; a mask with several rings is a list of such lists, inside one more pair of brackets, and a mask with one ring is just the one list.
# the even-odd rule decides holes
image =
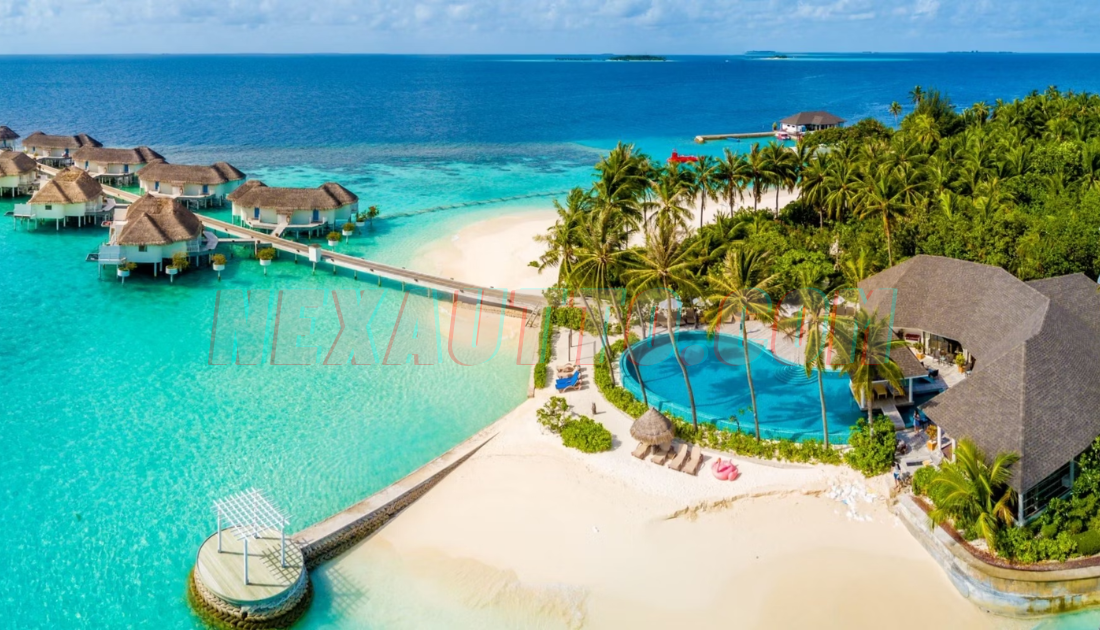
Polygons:
[[695,394],[692,391],[688,366],[680,356],[676,335],[671,324],[672,290],[679,287],[697,291],[695,277],[692,273],[694,268],[694,248],[685,244],[676,225],[658,221],[646,230],[646,244],[640,250],[635,251],[632,264],[624,276],[629,280],[630,290],[634,294],[640,294],[650,288],[664,289],[670,322],[666,327],[669,333],[669,343],[672,345],[672,354],[675,356],[676,364],[684,377],[688,401],[691,404],[692,427],[698,428],[698,418],[695,413]]

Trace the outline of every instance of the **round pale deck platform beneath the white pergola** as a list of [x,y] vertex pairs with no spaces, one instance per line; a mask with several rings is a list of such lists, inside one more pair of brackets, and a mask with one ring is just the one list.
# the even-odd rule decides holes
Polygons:
[[298,546],[287,539],[286,566],[279,559],[279,533],[266,530],[249,539],[249,579],[244,581],[244,542],[230,530],[215,533],[199,548],[195,577],[219,599],[242,608],[278,607],[302,587],[306,572]]

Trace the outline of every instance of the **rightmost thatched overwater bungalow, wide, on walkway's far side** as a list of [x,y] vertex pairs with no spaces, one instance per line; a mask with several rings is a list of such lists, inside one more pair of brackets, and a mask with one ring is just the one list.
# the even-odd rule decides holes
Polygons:
[[255,230],[320,232],[359,213],[359,197],[339,184],[317,188],[275,188],[251,180],[229,196],[233,217]]

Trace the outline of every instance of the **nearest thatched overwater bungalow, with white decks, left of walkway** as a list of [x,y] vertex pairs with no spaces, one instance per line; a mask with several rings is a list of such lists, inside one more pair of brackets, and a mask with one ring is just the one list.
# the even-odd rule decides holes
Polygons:
[[177,253],[196,264],[218,246],[199,218],[178,199],[145,195],[114,213],[108,242],[99,247],[99,264],[152,264],[153,274]]

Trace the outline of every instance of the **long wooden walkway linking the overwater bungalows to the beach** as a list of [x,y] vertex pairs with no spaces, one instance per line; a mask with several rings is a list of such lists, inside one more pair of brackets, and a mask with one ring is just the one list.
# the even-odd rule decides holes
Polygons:
[[[42,164],[38,165],[38,170],[50,177],[59,173],[59,169]],[[103,186],[103,192],[131,203],[140,199],[140,196],[134,195],[133,192],[127,192],[110,186]],[[233,223],[229,223],[220,219],[213,219],[205,214],[199,214],[198,212],[196,212],[195,215],[202,221],[202,225],[207,230],[220,232],[233,239],[246,239],[257,244],[262,243],[270,245],[279,252],[285,252],[295,256],[302,256],[307,261],[309,259],[310,247],[306,243],[288,241],[273,234],[265,234],[243,225],[234,225]],[[539,295],[517,294],[516,291],[498,289],[495,287],[480,287],[477,285],[463,283],[453,278],[443,278],[430,274],[421,274],[408,270],[404,267],[395,267],[393,265],[386,265],[384,263],[369,261],[358,256],[349,256],[348,254],[341,254],[331,250],[321,250],[320,259],[317,262],[327,263],[333,267],[349,269],[355,274],[370,274],[377,278],[386,278],[393,281],[398,281],[402,283],[403,287],[408,284],[413,284],[431,289],[432,291],[451,294],[455,300],[465,302],[479,302],[486,306],[503,306],[505,308],[524,310],[540,310],[546,305],[546,299]]]

